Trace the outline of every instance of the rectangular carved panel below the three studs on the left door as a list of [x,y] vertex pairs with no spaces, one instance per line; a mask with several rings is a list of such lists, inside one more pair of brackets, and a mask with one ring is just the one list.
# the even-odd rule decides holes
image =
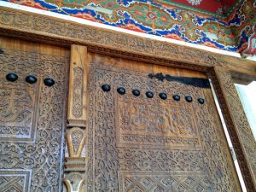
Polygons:
[[32,142],[37,122],[38,85],[5,83],[0,88],[0,137],[2,141]]

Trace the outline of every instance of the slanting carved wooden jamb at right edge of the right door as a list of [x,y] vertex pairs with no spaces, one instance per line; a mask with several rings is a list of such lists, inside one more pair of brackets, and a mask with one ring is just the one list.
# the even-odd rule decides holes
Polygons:
[[247,191],[256,191],[256,143],[229,69],[214,67],[214,89],[224,113]]

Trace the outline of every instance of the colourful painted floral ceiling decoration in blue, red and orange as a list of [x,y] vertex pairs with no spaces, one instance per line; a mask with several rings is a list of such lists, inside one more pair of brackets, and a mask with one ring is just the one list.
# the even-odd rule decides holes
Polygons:
[[3,1],[217,49],[255,46],[256,0]]

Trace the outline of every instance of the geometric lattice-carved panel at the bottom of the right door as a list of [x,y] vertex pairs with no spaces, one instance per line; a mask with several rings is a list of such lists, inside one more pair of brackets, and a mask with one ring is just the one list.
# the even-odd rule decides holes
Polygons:
[[211,191],[207,174],[195,172],[119,172],[119,192]]

